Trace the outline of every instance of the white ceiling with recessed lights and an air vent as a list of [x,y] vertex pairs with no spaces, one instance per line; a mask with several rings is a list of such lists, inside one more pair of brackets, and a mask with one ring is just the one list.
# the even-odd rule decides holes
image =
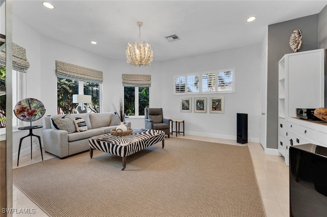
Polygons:
[[[42,35],[110,59],[125,59],[127,42],[151,43],[154,61],[260,43],[267,25],[319,13],[327,1],[13,0],[13,13]],[[253,22],[246,22],[256,16]],[[168,42],[177,34],[181,40]],[[290,35],[292,32],[290,32]],[[303,39],[304,41],[305,39]],[[98,42],[92,45],[90,41]]]

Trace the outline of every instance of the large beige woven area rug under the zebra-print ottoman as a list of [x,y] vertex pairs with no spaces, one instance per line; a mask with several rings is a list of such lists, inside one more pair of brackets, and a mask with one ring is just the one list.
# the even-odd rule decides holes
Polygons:
[[101,151],[13,170],[50,216],[266,216],[247,146],[166,138],[122,158]]

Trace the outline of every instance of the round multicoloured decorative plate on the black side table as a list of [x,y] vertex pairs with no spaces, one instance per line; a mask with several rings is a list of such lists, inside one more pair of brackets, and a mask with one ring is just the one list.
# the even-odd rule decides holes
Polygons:
[[26,98],[17,102],[14,113],[19,120],[32,122],[42,118],[45,108],[41,101],[34,98]]

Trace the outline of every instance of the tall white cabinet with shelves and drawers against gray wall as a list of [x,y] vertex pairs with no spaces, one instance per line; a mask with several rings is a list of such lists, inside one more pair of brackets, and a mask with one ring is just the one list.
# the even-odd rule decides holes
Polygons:
[[278,62],[278,151],[287,165],[291,142],[327,147],[327,125],[294,118],[296,108],[323,106],[324,49],[284,55]]

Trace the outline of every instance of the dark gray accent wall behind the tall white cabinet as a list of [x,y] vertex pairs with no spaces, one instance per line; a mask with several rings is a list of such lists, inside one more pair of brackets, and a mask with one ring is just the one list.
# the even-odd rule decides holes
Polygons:
[[302,32],[299,51],[318,49],[318,14],[268,25],[267,148],[278,148],[278,61],[293,52],[289,39],[294,30]]

